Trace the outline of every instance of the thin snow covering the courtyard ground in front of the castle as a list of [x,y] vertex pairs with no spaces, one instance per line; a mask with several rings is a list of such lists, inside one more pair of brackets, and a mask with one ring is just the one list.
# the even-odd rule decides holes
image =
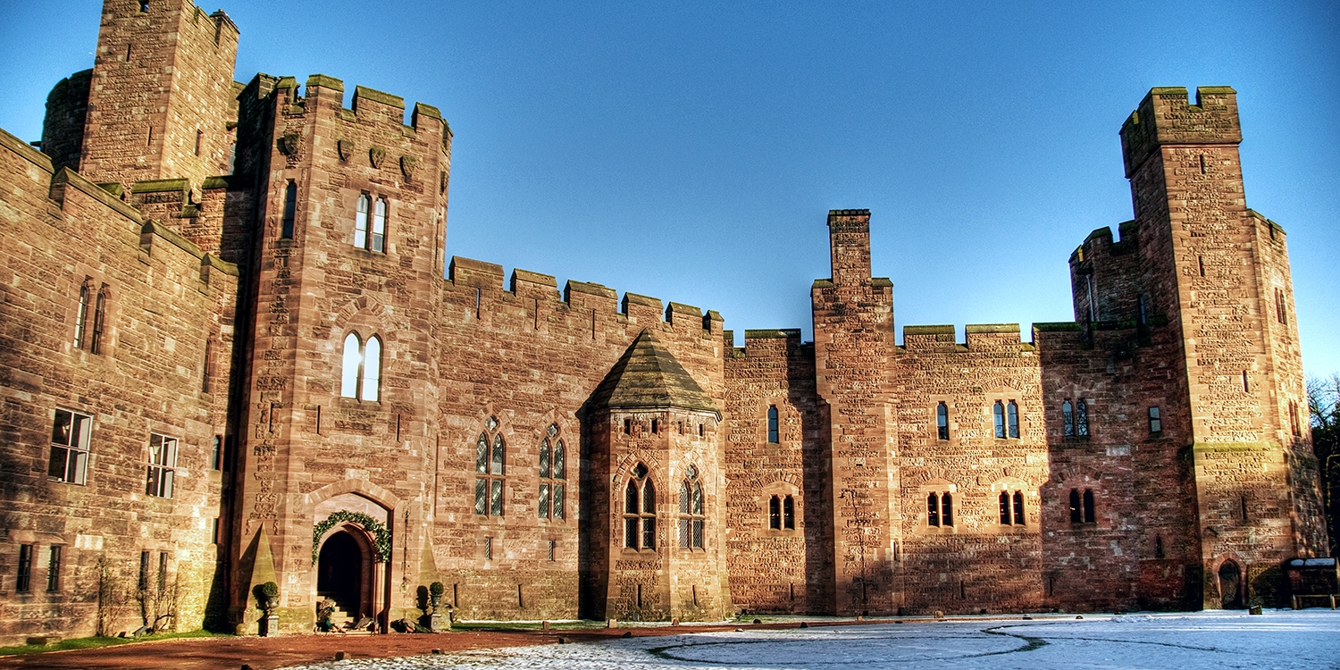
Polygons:
[[918,620],[355,659],[289,670],[476,669],[1340,669],[1331,610]]

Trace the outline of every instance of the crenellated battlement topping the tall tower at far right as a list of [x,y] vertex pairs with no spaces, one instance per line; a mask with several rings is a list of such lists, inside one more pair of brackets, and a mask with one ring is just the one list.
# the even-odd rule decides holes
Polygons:
[[1185,87],[1150,88],[1140,106],[1122,125],[1122,157],[1126,176],[1150,157],[1159,145],[1237,145],[1242,142],[1238,125],[1237,91],[1227,86],[1202,86],[1195,90],[1195,105],[1187,100]]

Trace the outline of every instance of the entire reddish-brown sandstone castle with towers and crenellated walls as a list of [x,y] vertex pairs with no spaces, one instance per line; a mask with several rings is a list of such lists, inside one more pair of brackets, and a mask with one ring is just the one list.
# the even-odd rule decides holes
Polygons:
[[[106,0],[40,151],[0,131],[0,643],[139,626],[1217,608],[1327,545],[1285,233],[1235,92],[1122,126],[1076,320],[903,326],[828,213],[815,342],[445,256],[452,130],[233,82],[239,29]],[[406,111],[410,123],[405,125]]]

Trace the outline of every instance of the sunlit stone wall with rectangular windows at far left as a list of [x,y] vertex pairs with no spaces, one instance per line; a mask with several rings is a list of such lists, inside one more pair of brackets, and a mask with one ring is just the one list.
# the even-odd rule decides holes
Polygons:
[[[216,440],[226,427],[237,268],[79,174],[54,174],[46,155],[3,133],[0,162],[16,214],[0,243],[0,638],[114,634],[169,612],[176,619],[163,624],[200,628],[221,595],[213,533],[229,473]],[[84,281],[106,296],[96,352],[91,330],[75,346]],[[58,410],[91,418],[82,484],[48,477]],[[146,494],[151,433],[180,440],[172,497]],[[27,592],[16,583],[20,545],[36,548]],[[48,583],[51,547],[60,548],[58,583]]]

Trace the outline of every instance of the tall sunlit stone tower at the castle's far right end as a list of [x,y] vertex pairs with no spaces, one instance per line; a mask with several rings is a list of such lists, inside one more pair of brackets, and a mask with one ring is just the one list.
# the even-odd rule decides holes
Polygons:
[[1122,127],[1139,318],[1181,334],[1164,421],[1190,442],[1206,607],[1269,600],[1280,561],[1325,547],[1284,230],[1246,208],[1241,141],[1229,87],[1154,88]]

